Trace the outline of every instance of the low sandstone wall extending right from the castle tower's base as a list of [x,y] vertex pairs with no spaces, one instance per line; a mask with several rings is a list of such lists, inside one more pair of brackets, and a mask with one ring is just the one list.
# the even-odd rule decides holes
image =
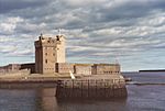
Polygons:
[[69,64],[56,63],[55,71],[59,74],[74,73],[76,75],[118,75],[119,64]]

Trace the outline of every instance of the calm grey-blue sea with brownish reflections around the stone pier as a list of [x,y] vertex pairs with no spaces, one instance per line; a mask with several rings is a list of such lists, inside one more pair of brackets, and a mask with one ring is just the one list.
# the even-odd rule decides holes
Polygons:
[[124,99],[67,101],[56,99],[54,87],[1,88],[0,111],[165,111],[165,73],[123,75],[132,78]]

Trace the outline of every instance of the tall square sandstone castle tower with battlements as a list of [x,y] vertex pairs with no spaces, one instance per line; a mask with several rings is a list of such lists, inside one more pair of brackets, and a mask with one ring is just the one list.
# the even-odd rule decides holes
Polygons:
[[65,63],[64,35],[46,37],[41,34],[35,41],[35,71],[37,74],[53,74],[56,63]]

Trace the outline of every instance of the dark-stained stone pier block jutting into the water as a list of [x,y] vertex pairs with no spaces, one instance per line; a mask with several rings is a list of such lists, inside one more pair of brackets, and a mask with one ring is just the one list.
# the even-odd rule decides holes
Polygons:
[[121,79],[59,80],[56,97],[59,99],[125,98],[125,82]]

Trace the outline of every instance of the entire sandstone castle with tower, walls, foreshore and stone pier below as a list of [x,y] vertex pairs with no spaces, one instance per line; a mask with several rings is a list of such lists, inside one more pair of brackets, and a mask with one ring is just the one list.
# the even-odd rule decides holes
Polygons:
[[[66,38],[62,34],[51,37],[41,34],[34,43],[35,63],[10,64],[0,67],[1,75],[21,74],[18,78],[14,78],[15,75],[13,75],[11,78],[7,76],[7,79],[1,79],[7,80],[7,82],[12,80],[22,84],[42,82],[46,85],[47,81],[54,82],[57,99],[127,97],[125,80],[120,73],[119,64],[67,63],[65,41]],[[12,82],[12,86],[18,88],[18,84]]]

